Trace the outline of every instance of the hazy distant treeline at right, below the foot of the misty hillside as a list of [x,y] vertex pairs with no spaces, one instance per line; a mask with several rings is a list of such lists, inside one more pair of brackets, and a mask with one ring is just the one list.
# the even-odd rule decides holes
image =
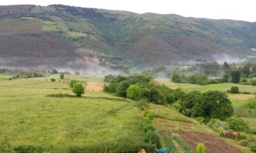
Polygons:
[[[199,72],[192,75],[184,75],[173,73],[171,81],[175,83],[188,84],[221,84],[231,82],[234,84],[246,84],[256,86],[256,64],[245,63],[244,65],[236,65],[224,63],[222,66],[217,63],[204,63],[197,65]],[[193,68],[190,68],[193,69]],[[222,78],[208,78],[208,74],[224,73]]]

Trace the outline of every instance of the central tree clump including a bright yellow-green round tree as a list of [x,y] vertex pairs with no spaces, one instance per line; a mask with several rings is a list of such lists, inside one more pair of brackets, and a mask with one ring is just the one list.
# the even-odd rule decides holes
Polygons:
[[158,84],[151,77],[139,76],[113,76],[106,75],[104,91],[111,92],[118,97],[132,100],[147,99],[152,103],[173,103],[180,99],[184,92],[180,89],[172,90],[165,85]]

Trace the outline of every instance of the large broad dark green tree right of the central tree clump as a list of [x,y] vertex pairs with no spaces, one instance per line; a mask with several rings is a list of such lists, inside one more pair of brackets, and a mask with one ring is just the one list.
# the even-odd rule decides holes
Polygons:
[[233,107],[225,92],[218,90],[190,92],[180,101],[180,112],[186,116],[219,118],[225,120],[233,114]]

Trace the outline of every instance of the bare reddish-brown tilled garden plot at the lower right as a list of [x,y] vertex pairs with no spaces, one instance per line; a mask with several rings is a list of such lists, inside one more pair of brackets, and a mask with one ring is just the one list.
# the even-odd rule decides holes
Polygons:
[[218,139],[218,137],[207,133],[184,131],[180,136],[194,150],[197,148],[197,143],[203,143],[206,147],[205,153],[243,153],[227,144],[224,140]]

